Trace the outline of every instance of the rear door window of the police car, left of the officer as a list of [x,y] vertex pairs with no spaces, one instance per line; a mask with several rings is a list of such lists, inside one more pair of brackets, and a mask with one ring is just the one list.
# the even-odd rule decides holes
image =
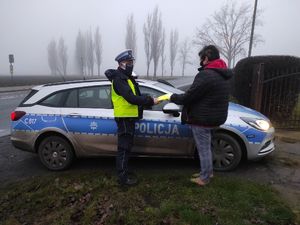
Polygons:
[[78,107],[112,109],[110,86],[80,88]]

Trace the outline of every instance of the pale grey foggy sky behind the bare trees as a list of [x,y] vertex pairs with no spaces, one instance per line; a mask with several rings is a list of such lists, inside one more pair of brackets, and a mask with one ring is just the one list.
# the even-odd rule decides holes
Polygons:
[[[254,5],[254,0],[239,0]],[[15,74],[50,74],[47,46],[52,39],[63,37],[68,47],[68,74],[76,74],[75,41],[78,31],[100,27],[105,69],[115,68],[115,56],[125,49],[127,17],[133,13],[137,31],[137,61],[135,71],[145,74],[143,24],[155,6],[162,13],[166,28],[166,72],[169,65],[169,34],[178,29],[179,39],[194,39],[196,28],[218,11],[225,0],[0,0],[0,75],[9,74],[8,54],[15,55]],[[252,50],[252,55],[284,54],[300,56],[299,0],[258,0],[263,10],[262,27],[256,28],[264,39]],[[193,65],[186,74],[194,75],[198,47],[191,52]],[[96,67],[95,67],[96,68]],[[153,64],[150,73],[153,71]],[[161,74],[160,65],[157,70]],[[181,74],[176,62],[175,74]]]

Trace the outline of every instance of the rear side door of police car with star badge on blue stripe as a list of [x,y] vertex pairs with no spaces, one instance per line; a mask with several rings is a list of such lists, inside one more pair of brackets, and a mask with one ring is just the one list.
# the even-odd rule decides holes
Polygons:
[[82,155],[116,152],[117,127],[110,92],[110,85],[69,91],[62,114],[68,133],[78,144]]

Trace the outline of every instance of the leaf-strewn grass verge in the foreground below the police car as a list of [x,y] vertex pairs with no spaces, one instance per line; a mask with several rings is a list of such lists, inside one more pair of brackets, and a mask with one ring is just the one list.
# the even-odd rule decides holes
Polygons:
[[0,224],[296,224],[266,185],[217,176],[200,188],[190,175],[141,171],[127,190],[103,171],[20,181],[0,189]]

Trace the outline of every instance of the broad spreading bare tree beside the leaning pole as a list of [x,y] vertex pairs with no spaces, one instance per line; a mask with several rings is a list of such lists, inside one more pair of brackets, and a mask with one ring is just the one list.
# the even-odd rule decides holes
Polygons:
[[[246,55],[246,44],[250,41],[251,18],[249,4],[243,3],[239,7],[236,2],[230,1],[197,29],[195,44],[217,46],[227,60],[228,66],[232,67],[234,58]],[[256,23],[259,24],[260,21]],[[262,41],[260,37],[255,35],[253,44],[260,41]]]

